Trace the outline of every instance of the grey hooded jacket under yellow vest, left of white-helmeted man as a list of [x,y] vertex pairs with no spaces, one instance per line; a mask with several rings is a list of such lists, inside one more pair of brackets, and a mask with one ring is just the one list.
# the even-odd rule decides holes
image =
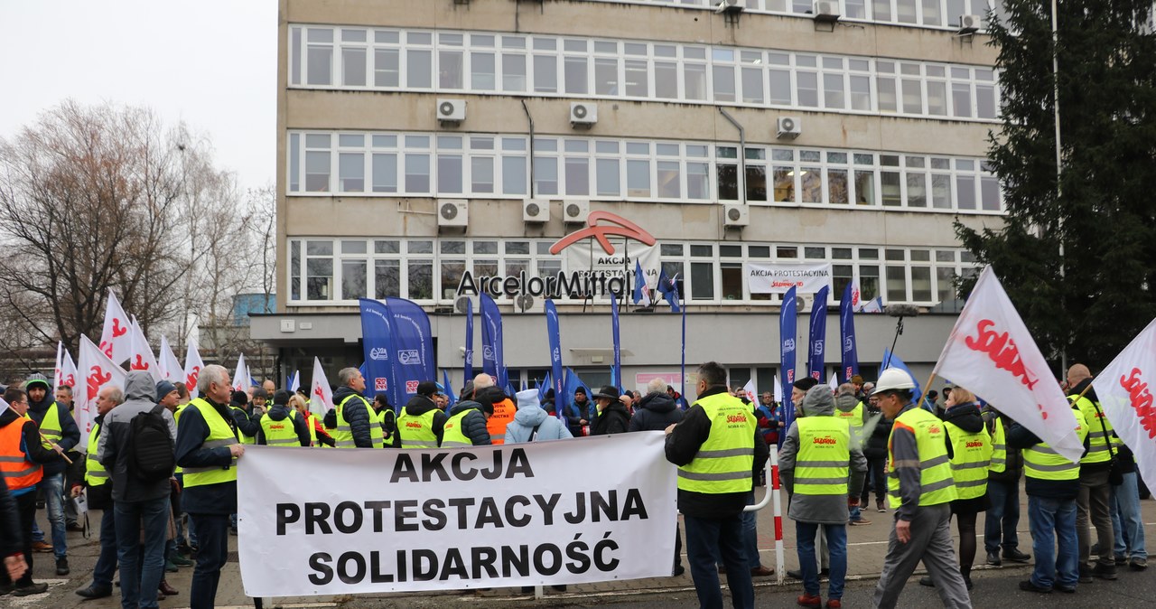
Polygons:
[[[831,388],[817,385],[807,392],[799,408],[799,417],[833,416],[835,399]],[[794,468],[799,455],[799,424],[791,423],[787,437],[779,451],[779,476],[791,493],[787,515],[799,522],[816,522],[820,525],[846,525],[851,517],[847,510],[847,498],[859,497],[862,492],[864,475],[867,471],[867,459],[859,446],[850,446],[851,460],[847,463],[850,478],[846,496],[835,495],[794,495]]]

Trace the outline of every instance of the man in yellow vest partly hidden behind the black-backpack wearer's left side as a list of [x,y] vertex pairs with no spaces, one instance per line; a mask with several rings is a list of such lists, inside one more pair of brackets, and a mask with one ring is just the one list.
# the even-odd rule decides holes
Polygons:
[[[103,599],[112,595],[112,578],[117,573],[117,528],[112,512],[112,483],[109,471],[96,460],[97,440],[101,439],[101,428],[104,415],[109,414],[125,401],[125,393],[119,387],[105,385],[96,394],[96,418],[92,419],[92,431],[88,435],[88,454],[84,455],[84,484],[88,489],[88,507],[101,510],[101,556],[92,567],[92,584],[76,591],[84,599]],[[72,488],[72,496],[80,496],[81,484]]]

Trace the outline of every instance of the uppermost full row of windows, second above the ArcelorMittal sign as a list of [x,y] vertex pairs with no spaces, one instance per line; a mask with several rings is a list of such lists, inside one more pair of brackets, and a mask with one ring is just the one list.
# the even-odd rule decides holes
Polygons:
[[290,28],[295,87],[533,94],[994,120],[995,70],[643,40]]

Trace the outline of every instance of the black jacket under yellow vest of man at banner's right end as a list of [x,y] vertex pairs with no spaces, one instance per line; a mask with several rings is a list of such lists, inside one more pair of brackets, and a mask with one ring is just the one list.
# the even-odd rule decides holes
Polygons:
[[[726,393],[725,386],[711,387],[698,398],[706,398],[719,393]],[[697,403],[682,417],[674,430],[666,437],[666,460],[676,465],[686,466],[695,460],[698,448],[711,435],[711,419],[706,417],[706,410]],[[755,436],[758,436],[758,428],[755,428]],[[758,468],[764,463],[770,452],[765,441],[756,441],[754,451],[754,467]],[[754,485],[751,485],[754,489]],[[686,515],[695,518],[722,519],[742,513],[747,506],[747,496],[751,491],[705,493],[684,491],[679,489],[679,511]]]

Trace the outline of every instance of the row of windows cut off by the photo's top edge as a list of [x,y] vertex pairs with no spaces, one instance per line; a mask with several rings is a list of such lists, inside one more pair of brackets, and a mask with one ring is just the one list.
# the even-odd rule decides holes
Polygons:
[[[615,3],[662,5],[713,9],[717,0],[598,0]],[[924,25],[955,29],[961,15],[983,17],[981,29],[987,29],[987,12],[994,10],[1001,20],[1007,15],[1002,0],[829,0],[838,7],[840,18]],[[786,15],[806,15],[815,12],[815,0],[739,0],[746,10]]]

